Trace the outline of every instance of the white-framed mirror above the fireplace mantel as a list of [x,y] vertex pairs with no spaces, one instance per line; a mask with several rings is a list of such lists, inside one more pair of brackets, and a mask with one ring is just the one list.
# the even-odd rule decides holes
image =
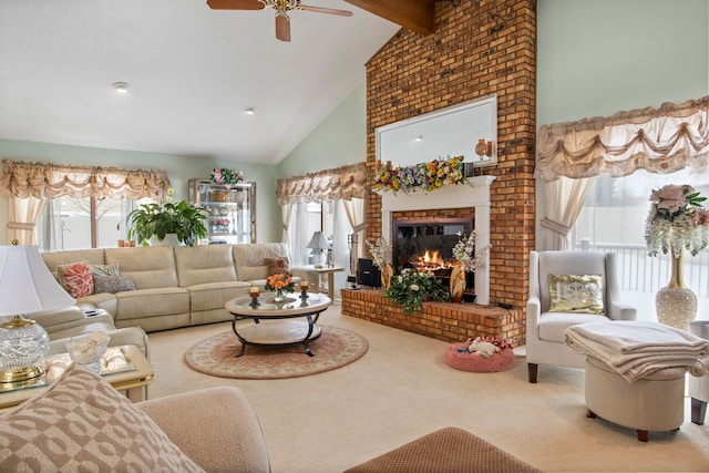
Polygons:
[[[475,167],[497,164],[497,95],[402,120],[374,131],[377,160],[411,166],[463,156]],[[485,146],[480,147],[481,141]],[[477,147],[477,152],[476,152]],[[485,154],[479,154],[484,150]]]

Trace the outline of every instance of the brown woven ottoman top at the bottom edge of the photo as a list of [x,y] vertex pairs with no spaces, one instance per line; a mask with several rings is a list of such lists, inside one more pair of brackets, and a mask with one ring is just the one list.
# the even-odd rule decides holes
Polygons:
[[459,428],[423,435],[345,473],[541,473],[528,463]]

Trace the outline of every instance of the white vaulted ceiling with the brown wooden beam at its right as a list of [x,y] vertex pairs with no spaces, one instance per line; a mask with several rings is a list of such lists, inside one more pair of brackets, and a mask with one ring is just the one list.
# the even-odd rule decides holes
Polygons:
[[307,3],[353,16],[292,11],[286,43],[206,0],[2,0],[0,140],[276,164],[400,25],[433,31],[432,0]]

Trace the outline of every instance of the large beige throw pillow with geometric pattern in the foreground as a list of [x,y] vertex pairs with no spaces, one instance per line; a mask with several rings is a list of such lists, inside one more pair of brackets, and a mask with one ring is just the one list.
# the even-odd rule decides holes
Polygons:
[[204,471],[147,414],[78,364],[0,415],[0,471]]

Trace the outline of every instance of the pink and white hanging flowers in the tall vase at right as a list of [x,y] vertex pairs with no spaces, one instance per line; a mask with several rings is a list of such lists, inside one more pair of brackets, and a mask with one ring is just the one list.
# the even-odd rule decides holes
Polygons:
[[650,194],[650,213],[645,226],[648,255],[672,251],[679,257],[682,248],[692,256],[709,245],[709,212],[692,186],[668,184]]

